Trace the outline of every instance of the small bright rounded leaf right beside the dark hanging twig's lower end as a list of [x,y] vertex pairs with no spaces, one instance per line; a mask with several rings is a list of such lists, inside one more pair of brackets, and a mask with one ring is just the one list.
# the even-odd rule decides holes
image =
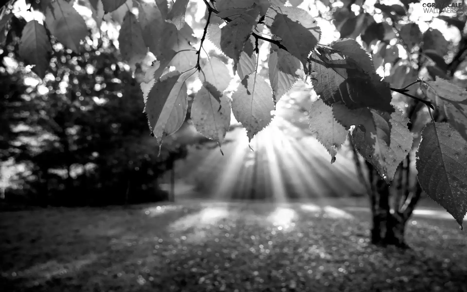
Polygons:
[[232,80],[229,69],[219,58],[211,57],[201,69],[201,81],[210,83],[220,92],[226,90]]

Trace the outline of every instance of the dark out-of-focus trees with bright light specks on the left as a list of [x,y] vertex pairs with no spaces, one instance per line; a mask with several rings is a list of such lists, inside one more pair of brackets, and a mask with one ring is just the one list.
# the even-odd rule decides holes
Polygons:
[[113,43],[88,38],[75,55],[54,42],[42,83],[14,50],[25,23],[13,17],[0,55],[0,155],[13,170],[4,173],[13,183],[5,199],[67,206],[167,199],[157,179],[186,146],[164,142],[158,155],[139,83]]

